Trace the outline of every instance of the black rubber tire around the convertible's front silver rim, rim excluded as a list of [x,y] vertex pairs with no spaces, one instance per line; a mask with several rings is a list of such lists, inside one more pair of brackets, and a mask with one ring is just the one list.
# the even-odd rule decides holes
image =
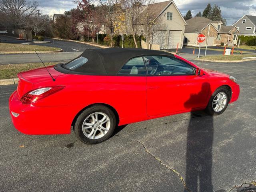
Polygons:
[[[224,93],[226,94],[226,96],[227,96],[227,102],[226,102],[225,107],[224,107],[221,111],[216,112],[216,111],[214,111],[214,109],[213,109],[213,103],[212,103],[212,102],[213,102],[215,96],[216,96],[217,94],[219,94],[220,92],[224,92]],[[230,95],[229,95],[228,90],[227,90],[225,87],[220,87],[220,88],[218,88],[218,89],[212,94],[212,96],[211,96],[211,98],[210,98],[210,100],[209,100],[209,102],[208,102],[208,105],[207,105],[205,111],[206,111],[208,114],[210,114],[210,115],[220,115],[220,114],[222,114],[222,113],[226,110],[226,108],[228,107],[228,102],[229,102],[229,100],[230,100]]]

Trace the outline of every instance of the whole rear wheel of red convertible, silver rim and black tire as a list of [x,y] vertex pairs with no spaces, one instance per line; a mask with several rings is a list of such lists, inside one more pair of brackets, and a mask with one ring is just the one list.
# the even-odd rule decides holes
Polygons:
[[86,108],[76,119],[74,132],[86,144],[96,144],[107,140],[116,127],[112,110],[104,105]]

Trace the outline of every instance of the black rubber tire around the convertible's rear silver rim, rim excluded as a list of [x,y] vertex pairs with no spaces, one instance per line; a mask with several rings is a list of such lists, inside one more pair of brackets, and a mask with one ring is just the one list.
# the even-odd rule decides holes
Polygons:
[[[82,131],[82,126],[83,126],[84,120],[90,114],[93,114],[93,113],[96,113],[96,112],[104,113],[109,117],[109,119],[110,119],[110,128],[109,128],[108,132],[104,136],[102,136],[101,138],[90,139],[90,138],[88,138],[84,135],[84,133]],[[110,108],[108,108],[104,105],[96,104],[96,105],[90,106],[89,108],[86,108],[78,116],[78,118],[76,119],[76,123],[74,125],[74,133],[80,141],[82,141],[86,144],[97,144],[97,143],[103,142],[103,141],[107,140],[108,138],[110,138],[110,136],[114,132],[115,127],[116,127],[116,117],[115,117],[114,112]]]

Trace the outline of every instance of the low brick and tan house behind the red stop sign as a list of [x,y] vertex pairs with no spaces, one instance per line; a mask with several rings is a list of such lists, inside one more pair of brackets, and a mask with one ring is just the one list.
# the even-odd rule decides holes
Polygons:
[[[197,42],[198,34],[204,34],[206,40],[201,46],[206,46],[207,37],[208,46],[220,45],[220,43],[237,44],[239,30],[236,26],[224,26],[221,21],[212,21],[204,17],[194,17],[186,20],[187,26],[184,32],[184,45],[199,46]],[[209,34],[209,36],[208,36]]]

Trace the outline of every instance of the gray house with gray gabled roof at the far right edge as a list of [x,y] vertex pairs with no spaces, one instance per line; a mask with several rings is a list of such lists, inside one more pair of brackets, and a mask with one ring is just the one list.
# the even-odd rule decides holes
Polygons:
[[236,26],[240,31],[240,35],[255,36],[256,35],[256,16],[244,15],[232,26]]

